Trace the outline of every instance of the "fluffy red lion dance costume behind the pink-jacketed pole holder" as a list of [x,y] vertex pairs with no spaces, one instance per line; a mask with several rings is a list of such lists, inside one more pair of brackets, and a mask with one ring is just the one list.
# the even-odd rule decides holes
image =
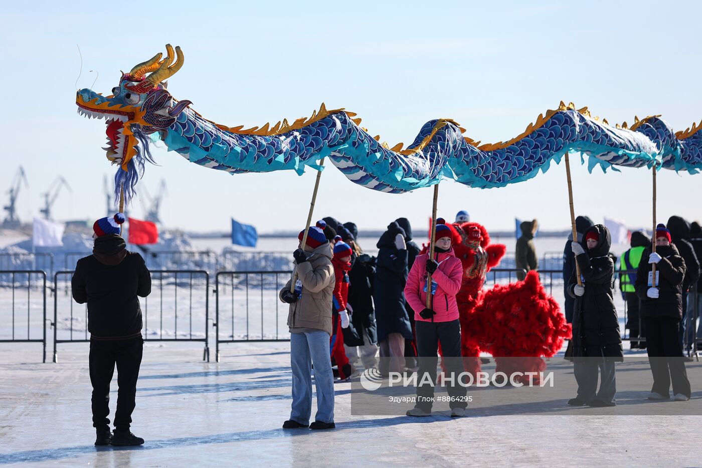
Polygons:
[[[442,222],[439,219],[437,222]],[[448,225],[448,223],[445,223]],[[452,246],[463,263],[463,284],[456,295],[461,313],[461,351],[463,366],[476,377],[480,371],[480,352],[495,356],[496,372],[535,372],[534,384],[546,368],[542,357],[551,357],[571,337],[571,326],[548,295],[536,272],[524,281],[496,285],[483,290],[487,272],[505,255],[503,244],[491,244],[486,229],[477,222],[451,225]],[[423,253],[428,250],[425,246]],[[515,378],[529,383],[529,375]]]

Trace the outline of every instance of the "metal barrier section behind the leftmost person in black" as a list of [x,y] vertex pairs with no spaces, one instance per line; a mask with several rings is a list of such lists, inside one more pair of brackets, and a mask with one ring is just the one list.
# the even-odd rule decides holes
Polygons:
[[[73,300],[72,274],[54,274],[53,362],[58,362],[58,344],[90,341],[88,308]],[[152,270],[151,294],[140,299],[144,341],[203,342],[202,360],[209,361],[209,284],[209,274],[204,270]],[[154,307],[150,307],[154,301],[158,304],[155,314]],[[204,320],[194,317],[196,311],[204,312]],[[154,321],[157,325],[153,325]]]

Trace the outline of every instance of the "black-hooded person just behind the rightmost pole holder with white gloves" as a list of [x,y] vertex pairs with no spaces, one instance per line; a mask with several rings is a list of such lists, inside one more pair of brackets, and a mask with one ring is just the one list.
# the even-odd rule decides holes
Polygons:
[[[687,318],[687,293],[694,288],[700,277],[700,263],[692,244],[689,242],[690,223],[680,216],[671,216],[665,227],[670,231],[670,241],[675,244],[682,260],[685,261],[685,279],[682,281],[682,325],[678,334],[682,349],[689,349],[694,338],[694,331],[691,330],[691,318]],[[687,339],[685,339],[686,335]]]

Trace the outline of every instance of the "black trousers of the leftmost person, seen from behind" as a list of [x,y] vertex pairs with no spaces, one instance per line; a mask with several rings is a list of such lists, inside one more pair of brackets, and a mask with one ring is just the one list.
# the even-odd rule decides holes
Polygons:
[[110,381],[117,364],[117,410],[114,427],[129,430],[135,406],[136,380],[144,349],[142,337],[131,340],[90,342],[90,381],[93,385],[93,427],[110,425]]

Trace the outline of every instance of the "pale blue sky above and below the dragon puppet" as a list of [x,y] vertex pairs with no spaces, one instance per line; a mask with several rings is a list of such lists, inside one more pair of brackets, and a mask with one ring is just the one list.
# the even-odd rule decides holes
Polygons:
[[[21,163],[29,179],[18,202],[25,221],[39,214],[41,195],[58,175],[73,192],[60,193],[55,218],[104,215],[103,177],[114,173],[100,149],[105,123],[76,114],[75,90],[109,93],[120,70],[165,51],[166,43],[185,54],[168,90],[228,126],[309,116],[325,102],[356,112],[381,141],[407,145],[425,121],[439,117],[460,122],[475,140],[508,140],[560,100],[587,105],[610,123],[663,114],[680,130],[702,117],[697,2],[169,1],[137,8],[24,1],[3,8],[0,197],[6,204]],[[166,180],[167,227],[227,230],[234,217],[271,232],[305,222],[313,171],[228,175],[163,149],[154,154],[160,166],[147,166],[141,184],[154,193]],[[651,225],[649,171],[589,175],[578,163],[573,172],[577,213]],[[333,215],[366,229],[399,216],[425,225],[431,199],[430,189],[365,189],[330,167],[315,218]],[[702,176],[658,176],[661,219],[702,218],[701,200]],[[501,189],[446,180],[439,215],[453,218],[461,209],[490,229],[512,229],[515,217],[564,229],[564,165]],[[143,215],[140,200],[133,215]]]

